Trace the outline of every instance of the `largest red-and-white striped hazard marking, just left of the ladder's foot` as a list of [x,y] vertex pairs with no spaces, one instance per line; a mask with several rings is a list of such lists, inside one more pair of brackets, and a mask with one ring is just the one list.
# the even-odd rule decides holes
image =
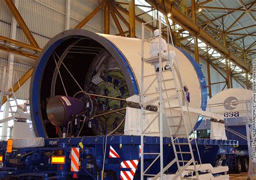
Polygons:
[[138,167],[139,160],[130,160],[130,161],[122,161],[121,168],[130,168],[130,171],[121,171],[121,179],[123,180],[132,180],[136,169]]

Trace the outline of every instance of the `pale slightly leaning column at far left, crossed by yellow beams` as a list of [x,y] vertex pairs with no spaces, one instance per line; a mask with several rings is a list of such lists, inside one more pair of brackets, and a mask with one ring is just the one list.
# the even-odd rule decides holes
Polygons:
[[[16,6],[16,8],[18,9],[18,4],[19,4],[19,0],[15,0],[14,4]],[[16,31],[17,31],[17,20],[15,19],[14,16],[12,16],[11,18],[11,33],[10,33],[10,38],[11,39],[16,39]],[[8,83],[7,83],[7,87],[5,87],[5,91],[8,91],[11,88],[11,83],[12,83],[12,76],[14,73],[14,54],[13,53],[9,53],[9,57],[8,57]],[[5,110],[4,110],[4,118],[8,118],[9,117],[9,105],[8,103],[5,103]],[[3,140],[6,140],[6,134],[8,133],[8,121],[3,123],[2,126],[2,136],[3,136]],[[11,135],[11,134],[10,134]]]

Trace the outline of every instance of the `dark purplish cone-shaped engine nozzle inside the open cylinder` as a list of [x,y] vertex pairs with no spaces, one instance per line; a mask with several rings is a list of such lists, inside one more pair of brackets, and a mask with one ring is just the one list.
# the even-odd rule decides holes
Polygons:
[[55,126],[68,124],[76,114],[83,112],[85,105],[82,100],[69,96],[53,96],[48,100],[46,113]]

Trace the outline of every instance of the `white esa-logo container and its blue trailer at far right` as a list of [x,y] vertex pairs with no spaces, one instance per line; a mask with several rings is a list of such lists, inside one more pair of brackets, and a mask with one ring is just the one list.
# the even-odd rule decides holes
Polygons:
[[[251,158],[252,142],[252,91],[233,88],[221,91],[207,104],[207,111],[223,114],[227,139],[237,140],[239,145],[231,147],[234,153],[227,156],[227,165],[233,172],[249,172],[253,175]],[[199,138],[211,138],[210,121],[202,121],[197,129]],[[249,161],[251,161],[249,163]]]

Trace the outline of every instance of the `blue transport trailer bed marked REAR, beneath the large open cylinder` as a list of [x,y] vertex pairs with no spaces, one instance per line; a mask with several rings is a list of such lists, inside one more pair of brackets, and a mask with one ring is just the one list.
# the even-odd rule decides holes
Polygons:
[[[144,140],[144,149],[147,152],[158,150],[159,137],[145,136]],[[179,139],[179,142],[186,141],[184,138]],[[11,142],[1,142],[0,179],[101,179],[102,176],[104,179],[123,179],[122,175],[132,175],[132,178],[140,179],[140,136],[112,135],[36,140],[25,138],[14,139],[12,143],[13,147],[10,149]],[[202,163],[210,163],[213,167],[218,161],[219,149],[230,149],[238,145],[238,142],[233,140],[197,139],[197,143]],[[28,147],[25,147],[26,144]],[[42,145],[43,147],[37,147]],[[16,146],[22,148],[15,148]],[[181,148],[186,151],[185,146]],[[193,146],[193,149],[198,161],[196,147]],[[147,168],[155,157],[156,155],[145,156],[144,168]],[[190,157],[184,156],[184,159],[186,158]],[[164,138],[165,164],[173,159],[171,139]],[[176,170],[172,167],[166,174]],[[159,165],[154,164],[149,172],[159,172]]]

